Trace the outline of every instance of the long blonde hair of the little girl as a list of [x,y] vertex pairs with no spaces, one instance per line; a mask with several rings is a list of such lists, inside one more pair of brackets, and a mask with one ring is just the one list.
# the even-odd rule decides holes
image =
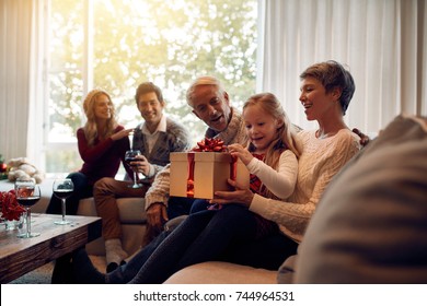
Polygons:
[[[255,94],[251,96],[243,105],[243,113],[246,107],[258,105],[265,113],[272,115],[277,120],[282,121],[282,125],[280,128],[277,129],[277,136],[269,144],[267,152],[264,156],[264,163],[270,166],[272,168],[276,169],[277,165],[279,163],[280,154],[285,150],[290,150],[293,152],[293,154],[297,156],[297,158],[301,155],[301,145],[297,138],[297,128],[291,123],[288,116],[286,115],[280,102],[277,99],[277,97],[272,93],[261,93]],[[255,151],[255,146],[251,143],[246,136],[247,141],[247,150],[250,152]],[[264,195],[268,198],[275,198],[276,196],[273,195],[269,190],[266,188]],[[262,188],[263,190],[263,188]]]

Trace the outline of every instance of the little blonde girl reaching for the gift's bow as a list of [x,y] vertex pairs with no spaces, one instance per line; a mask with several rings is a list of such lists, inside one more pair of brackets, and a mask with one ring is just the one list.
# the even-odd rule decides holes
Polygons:
[[[246,165],[251,173],[250,188],[253,192],[286,200],[293,192],[297,183],[297,157],[300,154],[293,125],[276,96],[270,93],[250,97],[243,105],[242,117],[246,127],[247,146],[230,144],[229,152]],[[196,200],[192,213],[204,210],[207,205],[209,202]],[[257,238],[267,235],[266,231],[276,229],[276,223],[257,214],[254,216],[261,231]]]

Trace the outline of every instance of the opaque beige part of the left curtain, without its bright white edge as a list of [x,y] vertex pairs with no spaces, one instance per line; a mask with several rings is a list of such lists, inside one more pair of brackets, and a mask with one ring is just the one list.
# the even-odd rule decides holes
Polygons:
[[32,3],[0,3],[0,153],[9,160],[26,154]]

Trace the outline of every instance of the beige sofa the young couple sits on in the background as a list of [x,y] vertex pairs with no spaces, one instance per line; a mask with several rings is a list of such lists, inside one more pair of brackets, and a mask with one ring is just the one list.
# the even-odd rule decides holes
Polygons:
[[[47,209],[51,197],[51,186],[54,178],[45,178],[41,186],[42,199],[32,209],[33,212],[44,213]],[[13,183],[9,180],[0,180],[0,191],[9,191],[13,189]],[[146,210],[143,198],[123,198],[117,200],[118,210],[120,213],[123,228],[123,247],[130,255],[140,248],[142,237],[146,231]],[[83,199],[80,201],[79,215],[96,216],[95,204],[93,198]],[[103,238],[99,238],[86,246],[86,250],[91,255],[105,255]]]

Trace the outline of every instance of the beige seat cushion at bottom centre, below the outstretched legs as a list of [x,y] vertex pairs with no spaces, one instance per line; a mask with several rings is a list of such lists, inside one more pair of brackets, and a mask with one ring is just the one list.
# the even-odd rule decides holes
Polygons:
[[165,284],[276,284],[277,271],[230,262],[208,261],[184,268]]

